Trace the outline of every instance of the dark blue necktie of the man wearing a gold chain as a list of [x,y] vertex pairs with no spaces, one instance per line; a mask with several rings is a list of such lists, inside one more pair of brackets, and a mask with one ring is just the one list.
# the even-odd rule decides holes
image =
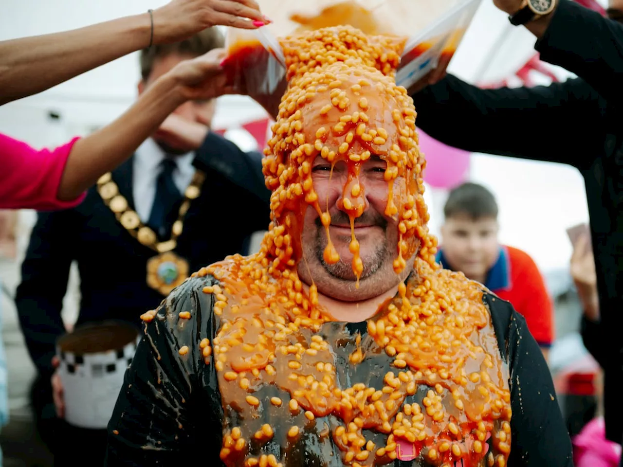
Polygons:
[[182,195],[173,182],[173,171],[177,168],[175,161],[164,159],[160,166],[161,172],[156,181],[156,197],[147,224],[159,237],[164,238],[178,217],[177,212],[173,215],[173,209],[182,200]]

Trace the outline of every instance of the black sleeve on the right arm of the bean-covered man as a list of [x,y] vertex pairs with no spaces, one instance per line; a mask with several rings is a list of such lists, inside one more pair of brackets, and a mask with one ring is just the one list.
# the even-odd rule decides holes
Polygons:
[[526,321],[507,301],[485,294],[510,371],[512,467],[573,467],[571,439],[564,425],[549,368]]

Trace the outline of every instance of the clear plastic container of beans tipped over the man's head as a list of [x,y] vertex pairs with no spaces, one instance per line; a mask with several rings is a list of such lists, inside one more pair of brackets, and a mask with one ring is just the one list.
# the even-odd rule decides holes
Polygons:
[[260,0],[262,13],[272,22],[254,31],[229,28],[224,66],[239,92],[273,113],[287,85],[279,40],[299,32],[348,25],[369,35],[391,35],[405,41],[396,82],[408,88],[431,69],[447,65],[480,1]]

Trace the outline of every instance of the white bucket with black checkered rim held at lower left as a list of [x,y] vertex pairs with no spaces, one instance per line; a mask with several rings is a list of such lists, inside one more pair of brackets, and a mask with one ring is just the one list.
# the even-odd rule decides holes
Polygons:
[[57,355],[67,423],[107,428],[139,341],[136,328],[115,321],[80,326],[60,337]]

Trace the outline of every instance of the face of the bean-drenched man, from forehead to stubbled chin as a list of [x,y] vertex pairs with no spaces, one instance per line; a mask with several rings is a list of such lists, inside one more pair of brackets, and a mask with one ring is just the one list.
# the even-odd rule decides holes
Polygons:
[[[402,241],[404,211],[399,215],[397,206],[408,205],[409,191],[417,191],[407,189],[417,164],[409,156],[417,154],[417,146],[412,138],[400,138],[401,128],[409,132],[405,119],[410,122],[415,112],[407,97],[386,92],[391,80],[380,72],[333,68],[336,79],[315,85],[313,99],[295,120],[305,141],[313,142],[300,168],[303,188],[311,180],[311,198],[317,197],[303,207],[305,261],[298,263],[298,273],[324,295],[364,300],[411,271],[416,238],[406,235]],[[402,227],[406,234],[404,222]],[[400,270],[402,260],[409,266]]]

